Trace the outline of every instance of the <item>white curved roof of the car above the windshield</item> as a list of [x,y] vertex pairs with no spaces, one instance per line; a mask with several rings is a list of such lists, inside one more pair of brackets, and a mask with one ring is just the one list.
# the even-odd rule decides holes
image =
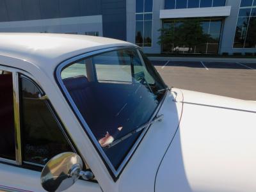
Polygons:
[[33,67],[53,72],[59,63],[79,54],[129,45],[134,44],[99,36],[0,33],[0,58],[18,58],[28,61],[28,65],[30,63]]

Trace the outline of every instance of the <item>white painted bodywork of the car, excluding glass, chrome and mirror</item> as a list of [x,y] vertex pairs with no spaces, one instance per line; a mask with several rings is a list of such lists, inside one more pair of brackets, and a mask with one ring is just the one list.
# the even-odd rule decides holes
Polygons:
[[[68,191],[256,191],[256,104],[178,89],[163,102],[164,120],[148,129],[113,180],[65,101],[54,70],[84,52],[130,45],[93,36],[0,35],[0,70],[25,74],[42,87],[98,181],[79,180]],[[40,172],[0,163],[3,186],[44,191]]]

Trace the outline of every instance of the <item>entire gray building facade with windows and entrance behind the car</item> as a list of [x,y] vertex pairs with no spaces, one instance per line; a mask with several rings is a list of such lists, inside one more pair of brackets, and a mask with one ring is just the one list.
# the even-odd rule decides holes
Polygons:
[[0,0],[0,32],[99,35],[147,53],[255,53],[256,0]]

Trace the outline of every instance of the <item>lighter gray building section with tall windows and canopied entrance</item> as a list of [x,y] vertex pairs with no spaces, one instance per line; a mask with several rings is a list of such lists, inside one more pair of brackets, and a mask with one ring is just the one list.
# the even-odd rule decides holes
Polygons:
[[256,0],[136,0],[126,4],[127,41],[145,52],[256,52]]

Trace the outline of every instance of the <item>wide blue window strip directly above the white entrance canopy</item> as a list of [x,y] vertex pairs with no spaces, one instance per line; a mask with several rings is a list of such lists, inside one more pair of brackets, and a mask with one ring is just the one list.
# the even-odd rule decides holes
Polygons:
[[164,9],[204,8],[225,4],[226,0],[164,0]]

